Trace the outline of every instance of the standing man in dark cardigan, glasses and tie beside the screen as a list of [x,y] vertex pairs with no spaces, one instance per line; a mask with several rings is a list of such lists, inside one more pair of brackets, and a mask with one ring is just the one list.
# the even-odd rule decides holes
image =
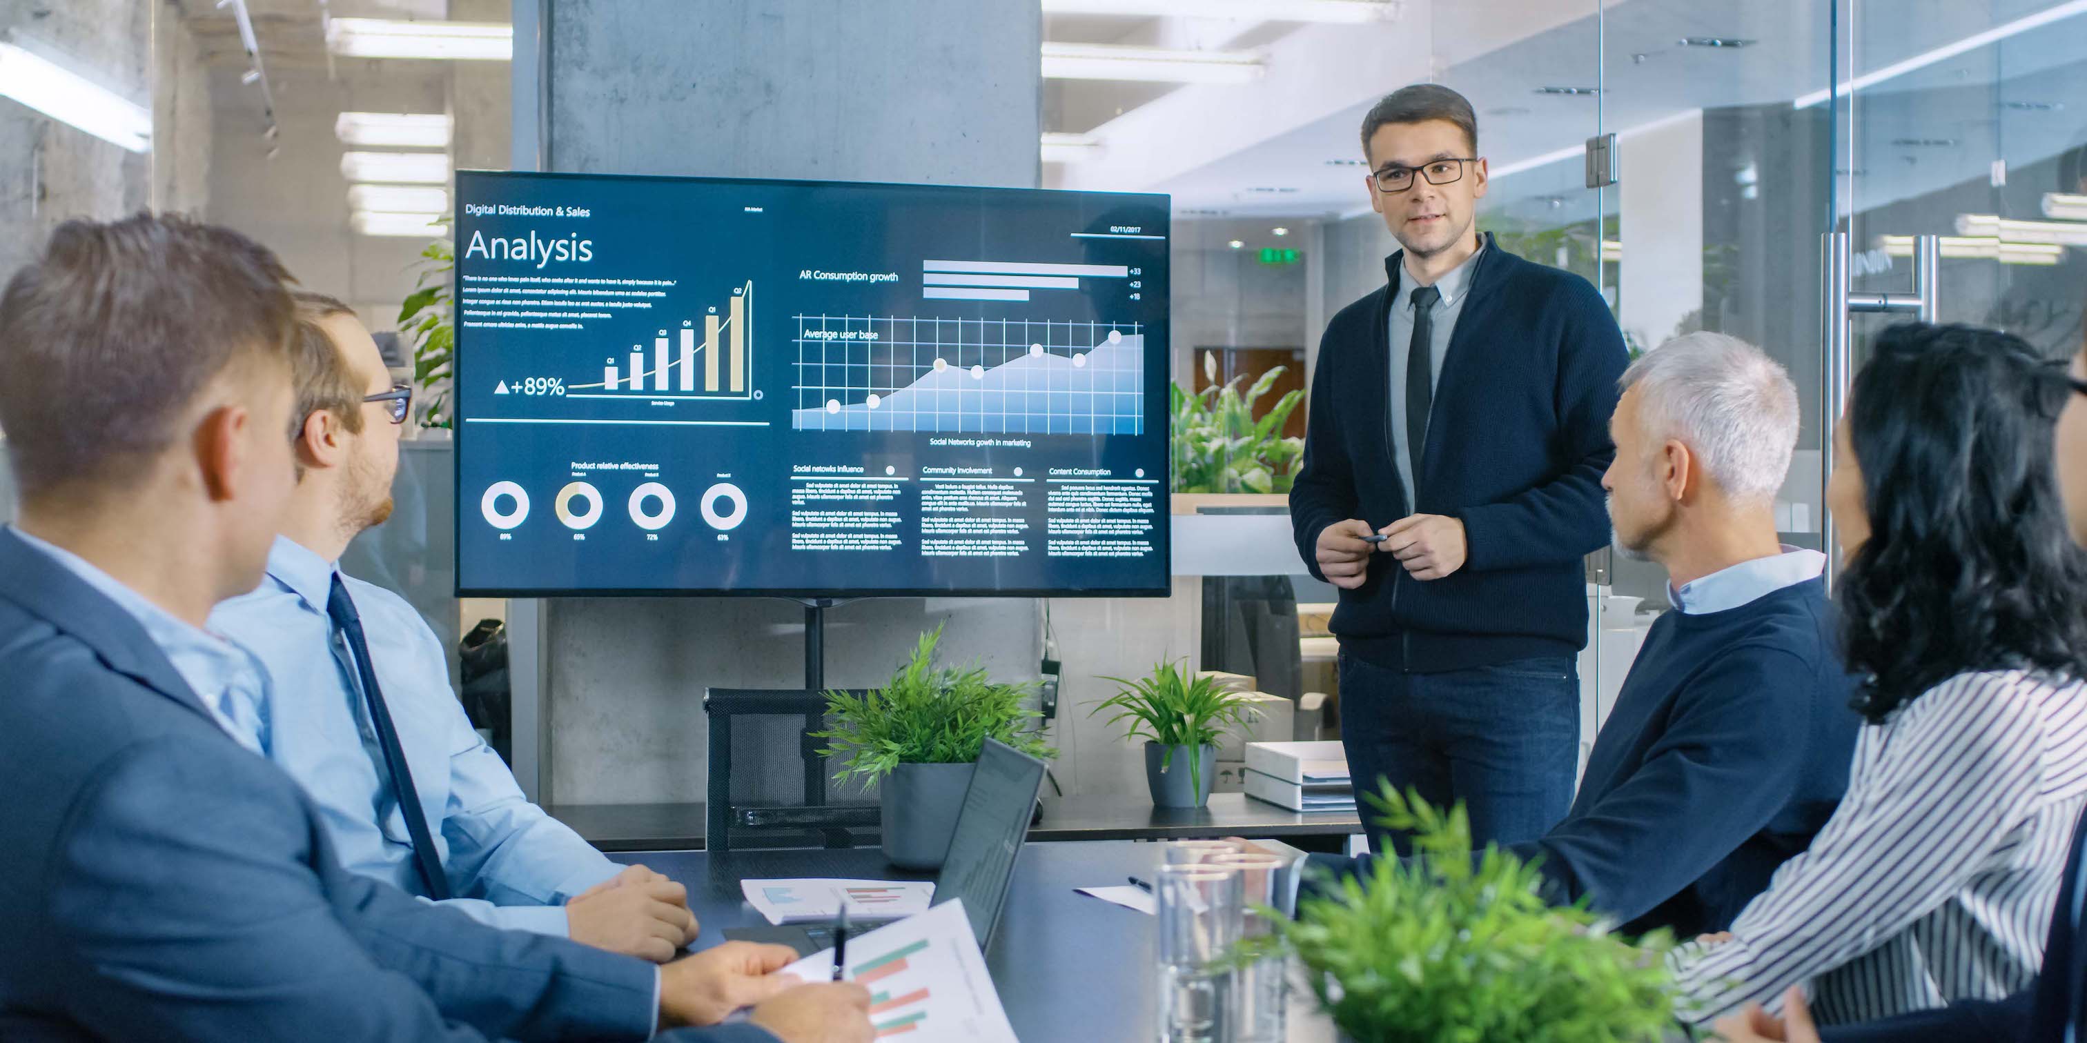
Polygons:
[[1586,280],[1473,227],[1486,161],[1461,94],[1388,94],[1363,156],[1402,250],[1327,323],[1290,492],[1298,551],[1340,588],[1342,743],[1357,789],[1465,801],[1478,845],[1532,841],[1572,803],[1582,557],[1609,542],[1628,353]]

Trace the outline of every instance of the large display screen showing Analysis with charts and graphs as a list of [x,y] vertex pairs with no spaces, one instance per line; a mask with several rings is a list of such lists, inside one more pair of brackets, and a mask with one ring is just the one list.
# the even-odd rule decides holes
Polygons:
[[457,175],[463,595],[1165,595],[1167,196]]

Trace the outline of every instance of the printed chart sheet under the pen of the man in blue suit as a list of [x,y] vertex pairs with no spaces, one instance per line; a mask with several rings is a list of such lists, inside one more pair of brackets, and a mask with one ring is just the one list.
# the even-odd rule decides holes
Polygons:
[[[829,980],[833,949],[783,972]],[[847,939],[847,978],[870,991],[877,1039],[1016,1043],[962,899]]]

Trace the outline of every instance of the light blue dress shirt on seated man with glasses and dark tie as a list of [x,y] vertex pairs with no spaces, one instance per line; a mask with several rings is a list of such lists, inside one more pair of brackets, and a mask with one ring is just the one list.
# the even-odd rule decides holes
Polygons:
[[[265,665],[267,715],[257,745],[319,803],[340,862],[424,895],[355,659],[326,615],[336,563],[275,538],[261,588],[225,601],[211,628]],[[622,866],[522,795],[513,772],[472,730],[449,688],[442,645],[413,607],[342,576],[363,620],[369,659],[405,749],[436,853],[459,897],[442,901],[501,926],[568,935],[563,903]]]

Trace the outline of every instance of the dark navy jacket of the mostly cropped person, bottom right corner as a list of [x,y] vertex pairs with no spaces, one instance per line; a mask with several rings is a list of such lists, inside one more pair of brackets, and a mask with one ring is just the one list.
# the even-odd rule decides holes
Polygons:
[[2079,943],[2077,901],[2081,845],[2087,816],[2072,826],[2072,857],[2066,862],[2052,932],[2043,943],[2043,972],[2037,985],[2008,999],[1949,1003],[1899,1018],[1822,1028],[1824,1043],[2064,1043],[2066,1026],[2087,1041],[2087,947]]

